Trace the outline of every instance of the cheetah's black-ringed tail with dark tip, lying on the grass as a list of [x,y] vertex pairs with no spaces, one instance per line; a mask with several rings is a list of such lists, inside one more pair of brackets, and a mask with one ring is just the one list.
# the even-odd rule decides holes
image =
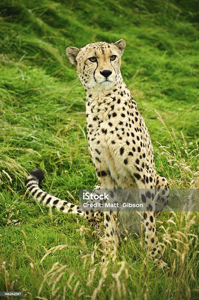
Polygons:
[[72,204],[68,201],[61,200],[55,196],[52,196],[42,189],[39,185],[44,179],[44,172],[41,169],[33,170],[25,181],[26,190],[34,197],[34,199],[43,203],[43,205],[56,207],[58,210],[62,210],[65,213],[71,212],[83,216],[84,213],[78,205]]

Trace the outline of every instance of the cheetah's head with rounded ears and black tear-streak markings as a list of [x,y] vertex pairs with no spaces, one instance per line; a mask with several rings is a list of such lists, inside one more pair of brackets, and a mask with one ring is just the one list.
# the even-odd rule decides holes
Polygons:
[[77,68],[84,88],[106,90],[119,82],[121,57],[126,42],[119,40],[114,44],[91,43],[78,49],[66,48],[66,55]]

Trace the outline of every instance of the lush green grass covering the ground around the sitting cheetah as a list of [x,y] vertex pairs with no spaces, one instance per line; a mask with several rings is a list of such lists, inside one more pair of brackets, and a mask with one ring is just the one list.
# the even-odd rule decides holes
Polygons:
[[62,199],[97,184],[85,92],[65,49],[120,38],[122,76],[151,134],[157,172],[171,186],[199,187],[198,150],[190,154],[199,143],[198,21],[198,1],[1,1],[0,291],[24,291],[25,299],[198,299],[198,212],[158,218],[164,273],[145,257],[143,238],[121,241],[116,261],[97,265],[99,241],[84,220],[24,197],[25,176],[40,165],[43,189]]

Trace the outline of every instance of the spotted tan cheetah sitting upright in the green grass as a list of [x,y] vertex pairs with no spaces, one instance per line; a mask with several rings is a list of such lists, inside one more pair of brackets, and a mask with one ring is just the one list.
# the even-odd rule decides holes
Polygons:
[[[88,148],[99,188],[142,191],[140,201],[144,205],[145,244],[149,256],[159,267],[165,268],[167,264],[161,257],[156,231],[155,195],[150,190],[164,189],[158,195],[163,202],[163,195],[168,195],[168,182],[156,174],[148,129],[121,76],[121,57],[125,46],[123,39],[114,44],[90,43],[81,49],[68,47],[66,55],[75,65],[86,92]],[[39,184],[43,178],[40,169],[29,174],[25,182],[29,193],[44,205],[83,216],[103,238],[105,254],[116,251],[117,212],[83,211],[80,206],[41,190]]]

